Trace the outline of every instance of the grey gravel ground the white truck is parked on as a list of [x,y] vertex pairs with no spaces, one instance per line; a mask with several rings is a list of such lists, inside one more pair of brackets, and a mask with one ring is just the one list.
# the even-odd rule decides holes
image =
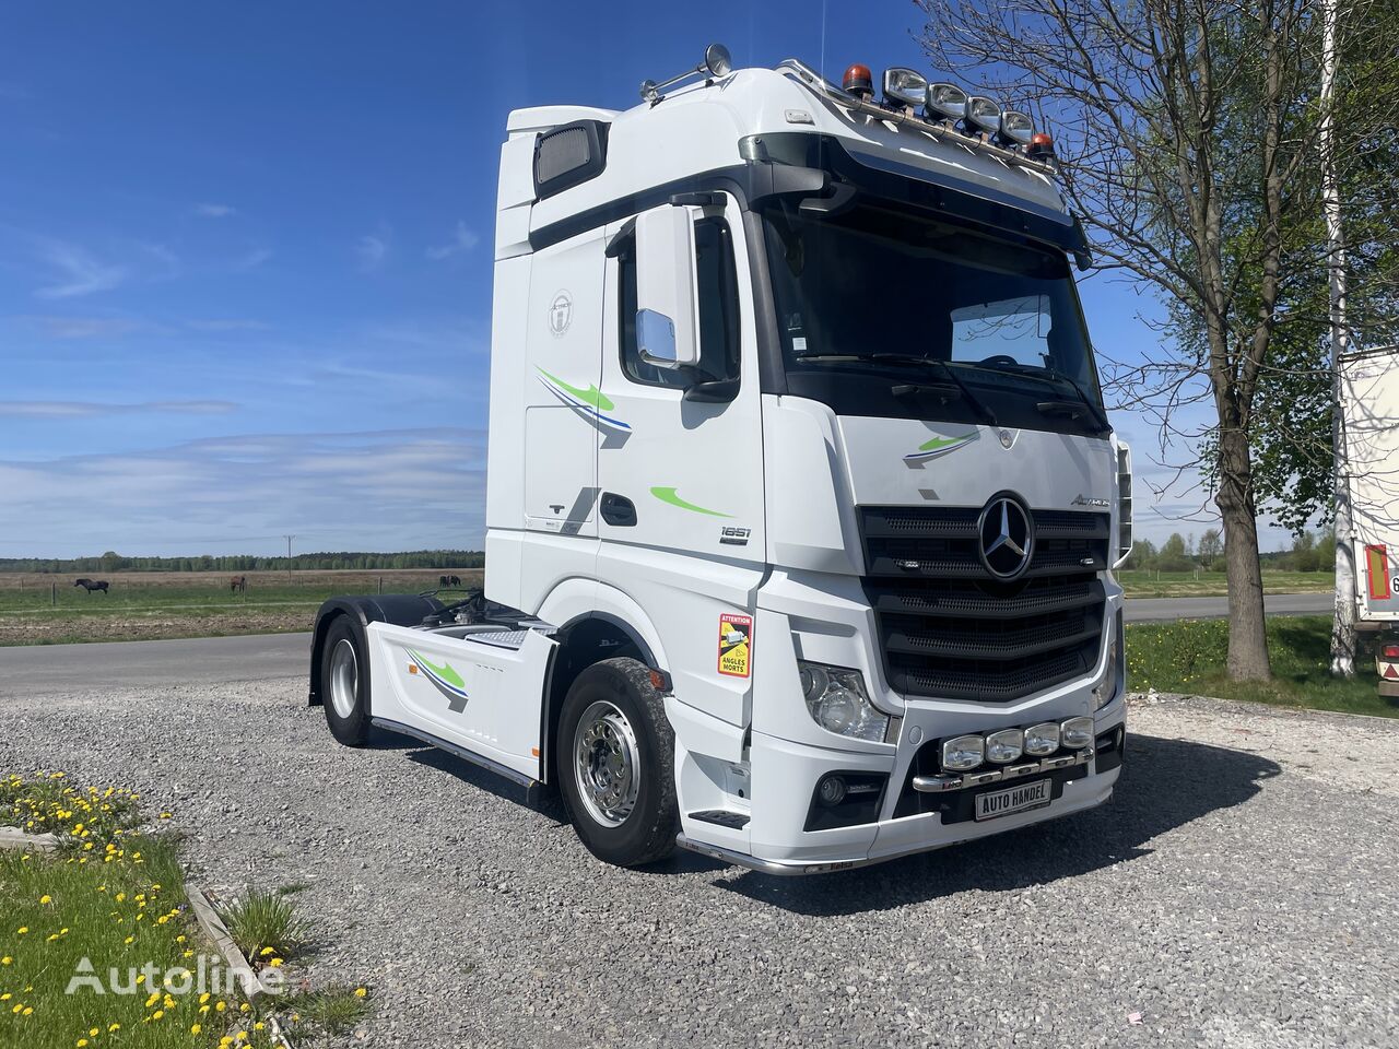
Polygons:
[[1399,722],[1137,701],[1102,808],[778,880],[604,867],[557,808],[341,748],[304,697],[0,695],[0,771],[136,786],[206,883],[305,883],[316,975],[375,987],[360,1043],[1399,1046]]

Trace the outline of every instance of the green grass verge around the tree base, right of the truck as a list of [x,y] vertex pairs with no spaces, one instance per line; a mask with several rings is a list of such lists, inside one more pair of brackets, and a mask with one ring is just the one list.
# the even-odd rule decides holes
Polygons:
[[1307,706],[1314,711],[1399,718],[1399,701],[1375,692],[1372,657],[1361,653],[1353,681],[1330,676],[1330,617],[1288,615],[1267,622],[1272,681],[1230,681],[1228,622],[1200,620],[1128,625],[1128,683],[1133,691],[1192,692],[1221,699]]

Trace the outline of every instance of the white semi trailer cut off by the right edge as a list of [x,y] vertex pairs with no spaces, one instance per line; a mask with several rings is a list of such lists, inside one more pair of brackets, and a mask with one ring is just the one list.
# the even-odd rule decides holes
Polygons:
[[1399,697],[1399,345],[1340,358],[1356,624],[1375,635],[1379,695]]

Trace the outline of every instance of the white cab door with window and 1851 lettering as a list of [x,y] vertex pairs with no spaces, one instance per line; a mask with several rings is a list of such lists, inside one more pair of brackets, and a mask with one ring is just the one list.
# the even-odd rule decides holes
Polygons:
[[638,257],[637,224],[609,228],[602,393],[618,425],[597,452],[597,578],[656,625],[677,698],[743,725],[751,666],[730,660],[741,673],[725,674],[718,657],[720,620],[730,617],[732,638],[733,617],[741,627],[751,615],[765,557],[751,280],[734,201],[716,193],[684,207],[694,224],[694,368],[642,359],[638,267],[667,260]]

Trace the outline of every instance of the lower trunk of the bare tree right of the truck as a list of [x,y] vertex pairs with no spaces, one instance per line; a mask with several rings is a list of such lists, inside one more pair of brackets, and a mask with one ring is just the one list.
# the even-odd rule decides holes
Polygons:
[[1258,559],[1258,515],[1248,436],[1220,431],[1220,490],[1216,502],[1224,523],[1224,572],[1228,580],[1228,676],[1266,681],[1267,632],[1263,617],[1263,571]]

